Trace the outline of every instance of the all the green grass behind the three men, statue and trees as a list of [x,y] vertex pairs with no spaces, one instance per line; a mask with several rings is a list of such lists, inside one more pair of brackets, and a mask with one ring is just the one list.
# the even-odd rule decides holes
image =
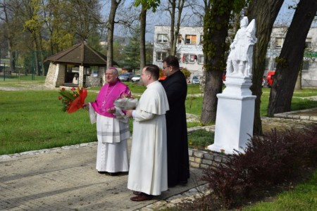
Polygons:
[[[0,81],[1,87],[19,87],[19,84],[44,84],[44,77],[21,76]],[[137,83],[127,82],[132,94],[139,97],[146,89]],[[24,86],[24,85],[23,85]],[[22,86],[22,87],[23,87]],[[89,89],[86,101],[94,101],[100,87]],[[261,115],[266,115],[269,89],[263,89]],[[317,89],[297,91],[298,96],[316,95]],[[302,94],[302,95],[301,95]],[[97,141],[96,126],[90,124],[88,113],[79,110],[68,114],[61,111],[58,91],[0,91],[0,155],[67,146]],[[202,96],[198,85],[188,85],[187,113],[201,115]],[[292,110],[317,107],[317,101],[294,98]],[[131,121],[132,122],[132,121]],[[132,129],[132,124],[131,129]],[[199,122],[189,122],[196,127]],[[195,143],[196,145],[196,143]]]

